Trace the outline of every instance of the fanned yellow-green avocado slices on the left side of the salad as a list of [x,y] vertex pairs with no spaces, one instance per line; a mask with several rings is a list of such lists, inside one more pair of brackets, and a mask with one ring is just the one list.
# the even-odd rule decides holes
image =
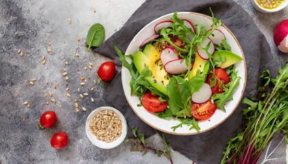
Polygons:
[[167,72],[164,68],[161,68],[156,64],[156,61],[160,59],[160,53],[155,49],[152,44],[147,44],[143,52],[139,51],[134,54],[134,64],[139,73],[148,66],[149,70],[152,72],[152,76],[145,77],[149,83],[155,87],[157,90],[167,95],[167,85],[169,80],[165,77]]

